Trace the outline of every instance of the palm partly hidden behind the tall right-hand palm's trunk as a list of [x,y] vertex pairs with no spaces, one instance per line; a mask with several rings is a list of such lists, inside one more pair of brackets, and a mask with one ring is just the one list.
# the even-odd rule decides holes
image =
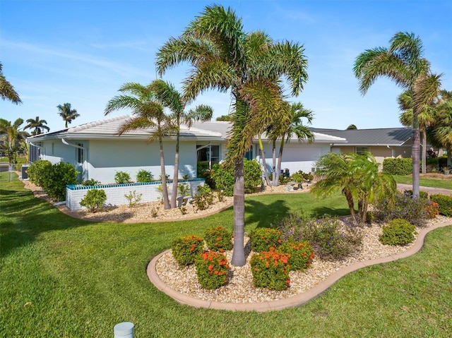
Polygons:
[[[430,80],[436,82],[435,85],[439,91],[439,76],[432,75],[430,77]],[[398,96],[397,100],[398,107],[402,111],[399,115],[400,123],[402,123],[403,126],[412,126],[412,92],[406,90]],[[427,160],[427,128],[434,123],[433,106],[434,101],[432,100],[432,102],[428,102],[428,104],[424,105],[417,115],[419,130],[422,135],[422,174],[425,174],[425,162]]]

